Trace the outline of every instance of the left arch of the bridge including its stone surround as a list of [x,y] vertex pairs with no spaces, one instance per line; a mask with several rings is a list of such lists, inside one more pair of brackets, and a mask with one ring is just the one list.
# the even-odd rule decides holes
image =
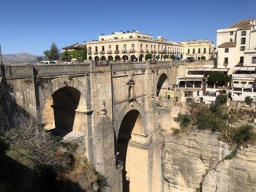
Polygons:
[[66,82],[58,78],[49,82],[40,93],[45,129],[61,137],[72,131],[85,133],[85,125],[80,123],[83,121],[80,112],[86,110],[85,91],[79,80]]

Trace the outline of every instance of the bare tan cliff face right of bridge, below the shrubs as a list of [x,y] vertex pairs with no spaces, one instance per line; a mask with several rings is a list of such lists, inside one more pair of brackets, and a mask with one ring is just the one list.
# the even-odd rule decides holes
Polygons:
[[256,191],[256,146],[224,160],[232,150],[210,131],[165,133],[165,191]]

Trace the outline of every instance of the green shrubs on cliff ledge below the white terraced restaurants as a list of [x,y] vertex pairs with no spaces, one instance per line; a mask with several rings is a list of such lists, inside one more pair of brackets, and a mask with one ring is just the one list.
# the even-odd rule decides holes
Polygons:
[[220,104],[192,104],[189,113],[180,113],[175,120],[180,123],[181,131],[191,129],[208,129],[213,133],[219,131],[220,139],[239,146],[255,142],[255,131],[249,124],[253,118],[254,115],[249,112],[241,109],[228,111],[227,107]]

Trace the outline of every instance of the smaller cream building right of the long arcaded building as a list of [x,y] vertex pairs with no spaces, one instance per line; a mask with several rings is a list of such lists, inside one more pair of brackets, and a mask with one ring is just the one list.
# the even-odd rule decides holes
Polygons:
[[208,40],[181,42],[184,45],[184,59],[209,60],[214,58],[215,45]]

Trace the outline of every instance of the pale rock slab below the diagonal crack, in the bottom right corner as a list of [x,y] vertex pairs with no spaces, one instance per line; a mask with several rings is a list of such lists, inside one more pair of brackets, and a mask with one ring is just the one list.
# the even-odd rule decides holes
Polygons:
[[202,190],[256,191],[256,146],[245,148],[231,160],[222,161],[216,169],[206,174]]

